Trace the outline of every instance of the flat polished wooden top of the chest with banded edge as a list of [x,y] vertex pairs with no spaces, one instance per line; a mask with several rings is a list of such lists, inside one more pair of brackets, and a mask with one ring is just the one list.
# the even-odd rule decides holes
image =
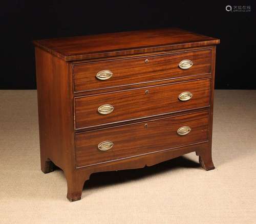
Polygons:
[[212,38],[179,28],[127,31],[33,41],[36,47],[76,61],[218,44]]

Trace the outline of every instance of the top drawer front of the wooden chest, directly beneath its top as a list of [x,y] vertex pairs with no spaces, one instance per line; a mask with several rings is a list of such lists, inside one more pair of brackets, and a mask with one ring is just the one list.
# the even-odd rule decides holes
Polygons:
[[[190,60],[193,65],[183,60]],[[181,61],[183,63],[180,68]],[[89,91],[205,74],[210,73],[210,69],[210,49],[77,64],[73,65],[74,91]]]

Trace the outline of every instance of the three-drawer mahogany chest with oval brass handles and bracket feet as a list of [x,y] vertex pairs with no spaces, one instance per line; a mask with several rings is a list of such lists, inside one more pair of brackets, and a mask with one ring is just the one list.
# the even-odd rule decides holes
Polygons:
[[74,201],[94,172],[193,151],[214,169],[219,42],[177,28],[34,41],[41,170],[60,167]]

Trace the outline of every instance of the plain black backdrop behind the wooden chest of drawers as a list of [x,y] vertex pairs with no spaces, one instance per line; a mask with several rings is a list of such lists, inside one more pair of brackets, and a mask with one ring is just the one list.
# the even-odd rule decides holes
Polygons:
[[[251,12],[227,12],[226,5]],[[256,89],[255,12],[246,1],[1,2],[0,88],[36,88],[33,39],[179,27],[221,39],[216,88]]]

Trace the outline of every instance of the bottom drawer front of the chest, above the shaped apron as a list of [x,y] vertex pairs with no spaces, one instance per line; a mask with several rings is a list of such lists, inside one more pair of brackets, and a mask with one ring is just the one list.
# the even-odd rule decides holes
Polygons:
[[129,158],[208,140],[209,111],[77,133],[76,166]]

